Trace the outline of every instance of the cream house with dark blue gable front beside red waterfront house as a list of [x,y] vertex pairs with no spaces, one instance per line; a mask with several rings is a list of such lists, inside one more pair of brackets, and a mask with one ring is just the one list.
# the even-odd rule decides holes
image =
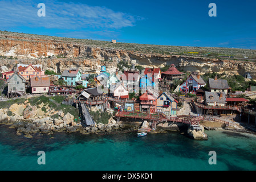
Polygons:
[[178,110],[178,101],[172,96],[169,96],[166,92],[163,92],[157,98],[156,108],[158,112],[162,112],[166,115],[176,115],[176,111]]

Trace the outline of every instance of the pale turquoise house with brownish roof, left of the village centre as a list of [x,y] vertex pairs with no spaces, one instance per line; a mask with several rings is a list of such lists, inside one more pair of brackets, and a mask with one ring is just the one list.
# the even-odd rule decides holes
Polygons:
[[82,73],[79,69],[65,70],[61,78],[67,82],[68,86],[76,86],[76,82],[82,80]]

